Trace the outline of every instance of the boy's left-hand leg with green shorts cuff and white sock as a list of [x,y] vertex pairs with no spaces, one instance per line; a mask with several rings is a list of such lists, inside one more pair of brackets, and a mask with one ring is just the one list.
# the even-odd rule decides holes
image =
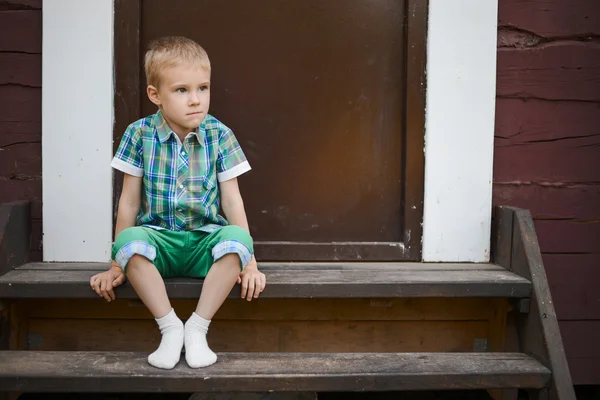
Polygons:
[[184,329],[171,307],[165,283],[158,270],[162,267],[164,273],[165,266],[160,264],[167,261],[160,253],[170,244],[169,240],[163,243],[165,240],[161,240],[162,236],[164,235],[150,228],[125,229],[115,242],[113,259],[125,270],[131,285],[160,329],[160,345],[148,356],[148,363],[157,368],[171,369],[181,356]]

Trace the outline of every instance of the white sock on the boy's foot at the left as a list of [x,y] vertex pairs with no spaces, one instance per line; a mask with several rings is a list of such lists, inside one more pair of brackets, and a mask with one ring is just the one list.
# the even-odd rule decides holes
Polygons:
[[179,362],[183,347],[183,322],[171,309],[167,315],[157,318],[156,323],[162,334],[158,349],[148,356],[150,365],[156,368],[172,369]]

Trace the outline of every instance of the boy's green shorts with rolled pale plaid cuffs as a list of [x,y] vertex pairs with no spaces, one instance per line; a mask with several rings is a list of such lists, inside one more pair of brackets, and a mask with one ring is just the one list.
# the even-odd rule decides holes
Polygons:
[[240,268],[252,259],[252,237],[236,225],[212,232],[157,230],[135,226],[123,230],[112,250],[112,259],[123,270],[135,254],[142,255],[163,278],[204,278],[210,267],[226,254],[237,254]]

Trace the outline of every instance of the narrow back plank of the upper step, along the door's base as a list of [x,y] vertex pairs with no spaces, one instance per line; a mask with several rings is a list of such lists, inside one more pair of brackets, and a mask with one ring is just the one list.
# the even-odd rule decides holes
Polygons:
[[[53,263],[28,263],[18,267],[19,270],[46,270],[46,271],[105,271],[108,263],[77,263],[77,262],[53,262]],[[259,262],[261,271],[502,271],[499,265],[488,263],[373,263],[373,262]]]

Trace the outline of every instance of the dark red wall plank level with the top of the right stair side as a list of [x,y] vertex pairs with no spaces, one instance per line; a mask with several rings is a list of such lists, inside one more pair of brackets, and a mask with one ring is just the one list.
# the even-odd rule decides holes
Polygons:
[[529,210],[533,218],[592,220],[600,217],[600,185],[494,184],[494,204]]

